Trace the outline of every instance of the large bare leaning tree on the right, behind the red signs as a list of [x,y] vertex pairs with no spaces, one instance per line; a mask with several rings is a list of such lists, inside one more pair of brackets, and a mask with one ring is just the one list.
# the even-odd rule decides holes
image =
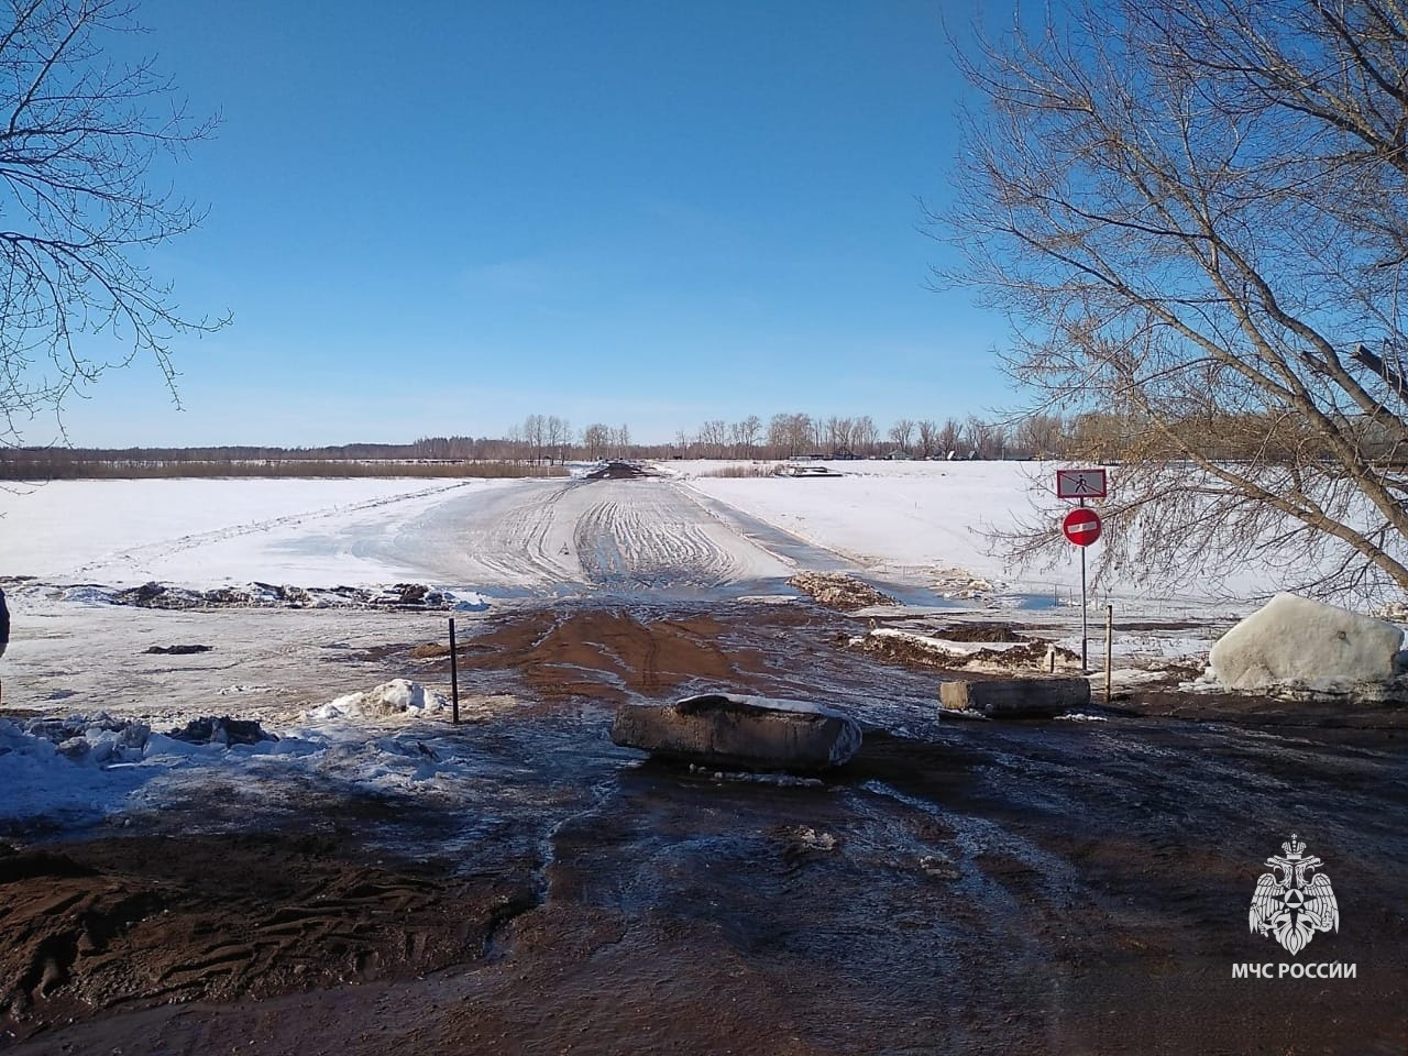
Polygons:
[[1041,410],[1118,422],[1107,566],[1198,574],[1276,546],[1328,567],[1307,589],[1408,589],[1408,11],[1049,18],[963,58],[990,107],[945,217],[969,253],[950,277],[1012,314],[1007,363]]

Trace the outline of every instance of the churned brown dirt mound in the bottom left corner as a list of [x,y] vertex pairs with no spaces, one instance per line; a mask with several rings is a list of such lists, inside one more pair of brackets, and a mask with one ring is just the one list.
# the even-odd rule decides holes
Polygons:
[[[332,850],[334,853],[329,853]],[[341,860],[273,834],[0,846],[0,1017],[265,997],[474,960],[536,903],[524,877]]]

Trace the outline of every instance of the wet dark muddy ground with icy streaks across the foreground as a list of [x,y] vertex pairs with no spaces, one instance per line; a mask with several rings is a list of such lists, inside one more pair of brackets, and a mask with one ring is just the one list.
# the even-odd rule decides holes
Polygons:
[[[483,620],[460,676],[525,705],[434,743],[482,787],[270,812],[228,787],[0,848],[14,1053],[1401,1053],[1408,719],[1132,693],[1087,719],[939,718],[936,674],[804,605]],[[386,642],[360,662],[441,680]],[[429,655],[427,655],[429,653]],[[667,767],[628,700],[732,689],[866,727],[824,780]],[[1249,934],[1298,834],[1339,932]],[[1233,979],[1240,963],[1354,979]]]

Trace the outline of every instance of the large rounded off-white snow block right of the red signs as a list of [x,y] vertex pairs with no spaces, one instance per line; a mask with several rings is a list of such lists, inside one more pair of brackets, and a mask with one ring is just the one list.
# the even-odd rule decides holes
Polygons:
[[1343,691],[1393,679],[1402,636],[1383,620],[1277,594],[1212,646],[1211,674],[1235,690],[1302,683]]

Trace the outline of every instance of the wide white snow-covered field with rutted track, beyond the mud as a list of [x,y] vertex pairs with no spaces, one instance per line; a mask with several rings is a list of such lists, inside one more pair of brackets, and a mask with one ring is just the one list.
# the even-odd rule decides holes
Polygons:
[[[670,462],[666,482],[134,480],[0,491],[0,576],[210,589],[407,579],[515,594],[780,580],[859,570],[949,597],[1070,603],[1079,551],[1012,567],[995,535],[1053,521],[1053,467],[1032,462],[850,462],[843,476],[724,479]],[[1095,556],[1100,543],[1090,555]],[[1095,584],[1125,614],[1246,611],[1284,570],[1231,569],[1173,589]]]

